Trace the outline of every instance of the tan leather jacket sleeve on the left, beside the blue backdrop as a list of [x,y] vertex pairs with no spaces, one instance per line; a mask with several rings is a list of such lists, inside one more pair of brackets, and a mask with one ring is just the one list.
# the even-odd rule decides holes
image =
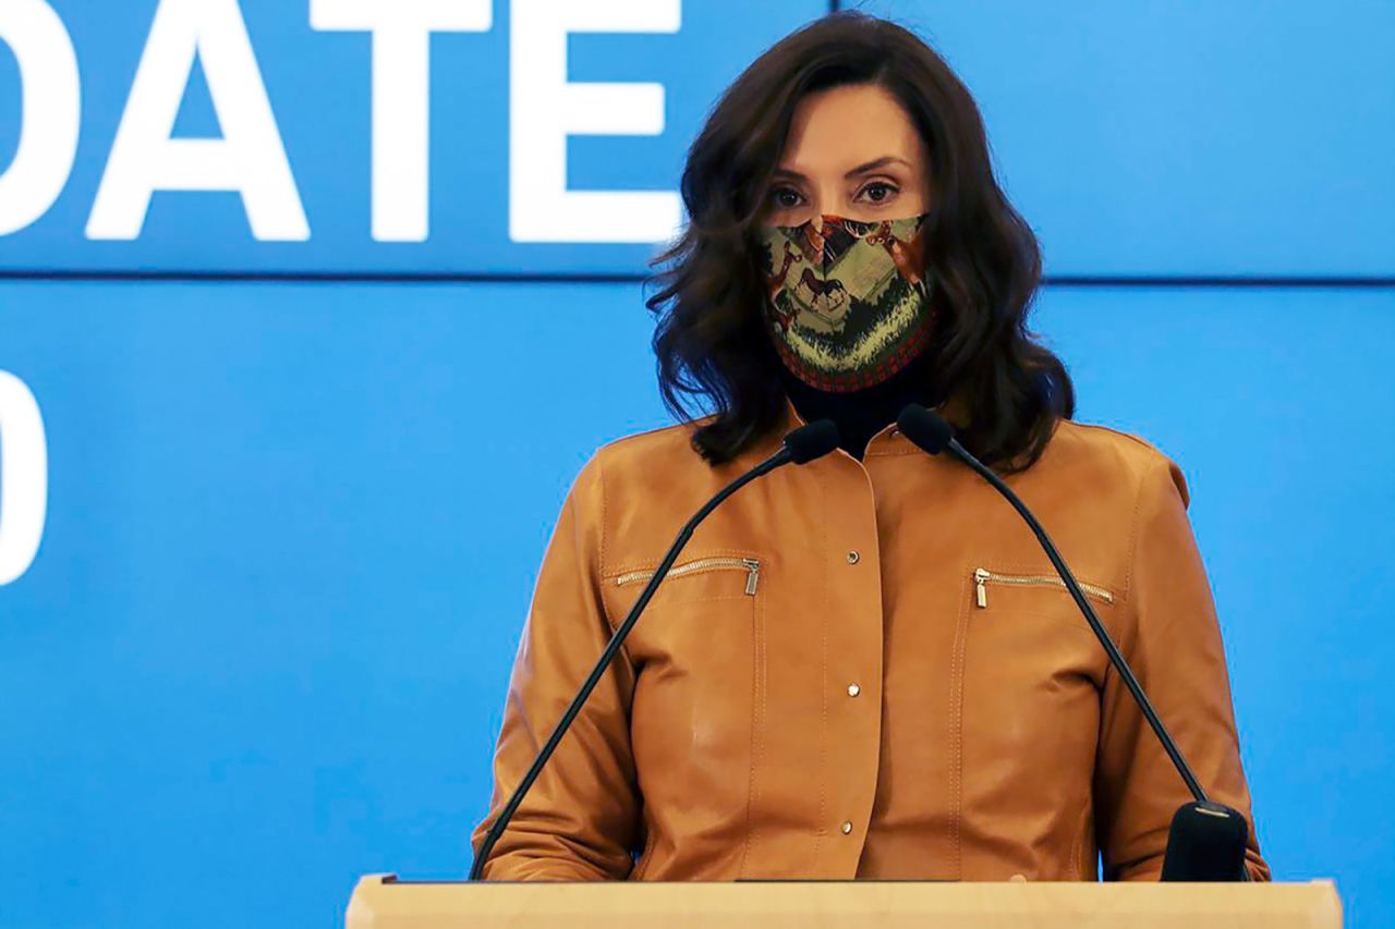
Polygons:
[[[513,660],[474,854],[610,639],[600,591],[604,487],[596,459],[562,506]],[[624,651],[591,692],[490,855],[488,880],[624,879],[639,791],[629,741],[633,670]]]

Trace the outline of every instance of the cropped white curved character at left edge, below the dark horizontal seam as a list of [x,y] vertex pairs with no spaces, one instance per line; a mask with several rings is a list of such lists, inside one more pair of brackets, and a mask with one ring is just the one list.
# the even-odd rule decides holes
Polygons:
[[49,509],[49,446],[39,403],[0,371],[0,584],[33,564]]

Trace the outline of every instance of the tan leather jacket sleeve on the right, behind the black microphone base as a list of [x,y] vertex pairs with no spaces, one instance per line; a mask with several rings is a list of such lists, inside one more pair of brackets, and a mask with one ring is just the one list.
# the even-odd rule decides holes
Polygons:
[[[1116,643],[1207,795],[1249,824],[1250,875],[1269,879],[1240,766],[1221,629],[1187,520],[1187,485],[1158,456],[1143,477]],[[1095,770],[1095,827],[1106,880],[1158,880],[1168,827],[1191,794],[1127,688],[1109,670]]]

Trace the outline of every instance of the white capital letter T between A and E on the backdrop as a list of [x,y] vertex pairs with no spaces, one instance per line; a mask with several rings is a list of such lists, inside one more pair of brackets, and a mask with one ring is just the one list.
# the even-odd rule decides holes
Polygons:
[[372,33],[372,237],[425,241],[431,33],[488,32],[492,0],[310,0],[310,25]]

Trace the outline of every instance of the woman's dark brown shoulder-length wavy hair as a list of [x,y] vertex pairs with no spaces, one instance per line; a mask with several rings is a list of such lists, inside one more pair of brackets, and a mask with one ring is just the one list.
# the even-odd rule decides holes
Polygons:
[[1027,311],[1041,250],[993,177],[968,89],[905,28],[834,13],[785,36],[727,89],[688,152],[689,223],[658,255],[646,300],[657,318],[660,392],[681,420],[711,418],[693,448],[728,462],[783,417],[778,356],[763,329],[764,292],[752,227],[778,167],[799,99],[876,84],[914,120],[930,159],[925,222],[936,335],[925,349],[930,396],[953,398],[960,441],[1002,471],[1030,467],[1057,418],[1074,414],[1060,360],[1034,342]]

